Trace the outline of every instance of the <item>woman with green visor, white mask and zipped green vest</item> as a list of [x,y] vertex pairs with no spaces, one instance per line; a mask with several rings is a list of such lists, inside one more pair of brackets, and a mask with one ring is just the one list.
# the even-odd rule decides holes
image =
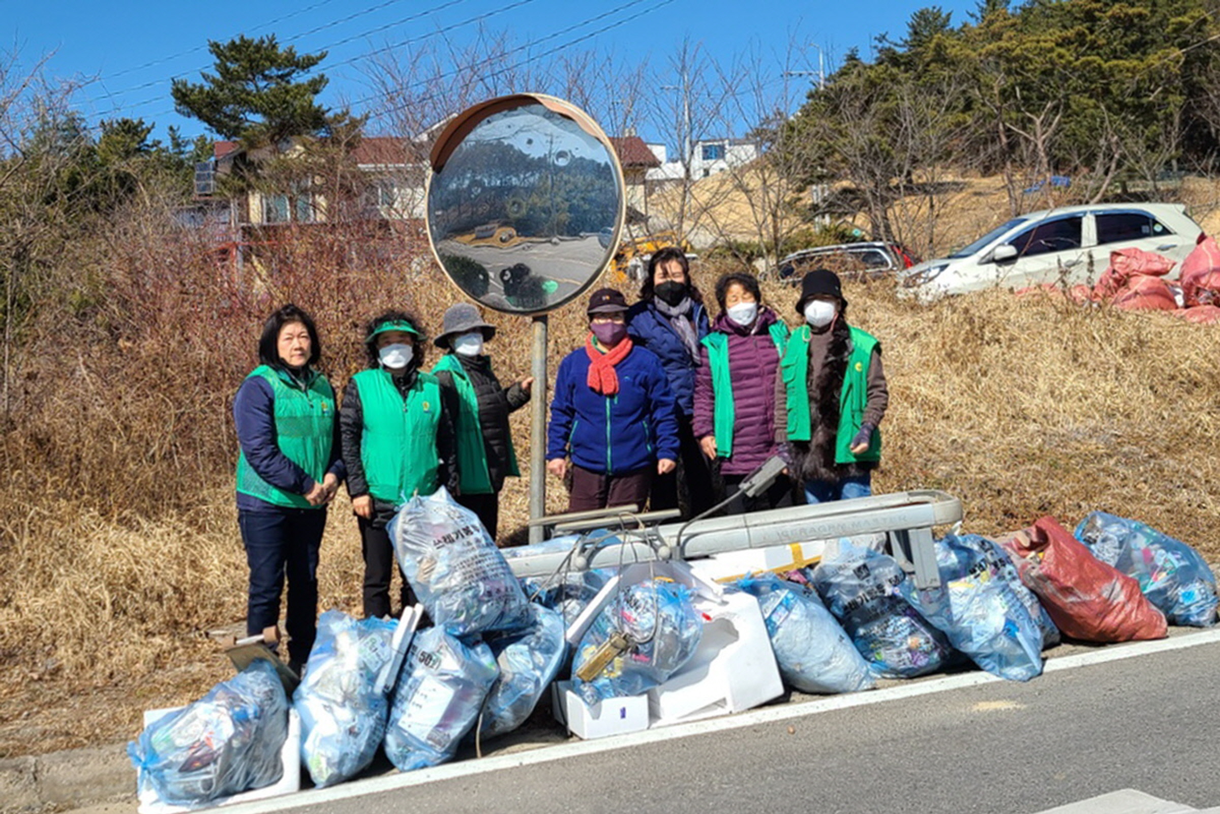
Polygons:
[[[365,559],[365,616],[389,616],[394,546],[386,525],[415,494],[456,488],[453,425],[436,376],[421,370],[425,336],[405,311],[387,311],[365,330],[368,370],[343,393],[339,431],[348,494]],[[411,602],[401,580],[401,607]],[[401,607],[399,613],[401,613]]]

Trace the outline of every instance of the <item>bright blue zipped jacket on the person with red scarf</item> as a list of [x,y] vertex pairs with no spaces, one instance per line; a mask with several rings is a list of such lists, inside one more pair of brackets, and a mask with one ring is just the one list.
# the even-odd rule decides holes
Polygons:
[[673,395],[660,360],[632,348],[615,372],[619,393],[605,397],[588,384],[589,356],[583,347],[559,362],[547,460],[571,455],[577,466],[601,475],[637,472],[661,458],[677,460]]

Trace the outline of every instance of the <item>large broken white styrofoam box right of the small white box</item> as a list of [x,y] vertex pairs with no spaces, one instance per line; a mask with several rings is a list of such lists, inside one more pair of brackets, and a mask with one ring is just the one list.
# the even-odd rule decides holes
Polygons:
[[681,672],[648,691],[651,726],[737,713],[783,694],[758,599],[731,592],[720,603],[698,597],[694,607],[703,637]]

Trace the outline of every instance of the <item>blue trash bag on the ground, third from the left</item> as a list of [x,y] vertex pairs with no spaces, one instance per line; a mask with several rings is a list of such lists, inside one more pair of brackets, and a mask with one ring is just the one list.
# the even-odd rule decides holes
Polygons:
[[389,709],[389,762],[411,771],[453,758],[498,675],[487,644],[467,647],[442,627],[416,633]]

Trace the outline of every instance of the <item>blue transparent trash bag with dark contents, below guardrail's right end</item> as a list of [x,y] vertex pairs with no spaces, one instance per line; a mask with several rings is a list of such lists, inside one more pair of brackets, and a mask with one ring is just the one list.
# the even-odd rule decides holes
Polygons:
[[906,575],[894,558],[839,539],[809,577],[878,676],[914,679],[952,663],[949,639],[899,593]]

